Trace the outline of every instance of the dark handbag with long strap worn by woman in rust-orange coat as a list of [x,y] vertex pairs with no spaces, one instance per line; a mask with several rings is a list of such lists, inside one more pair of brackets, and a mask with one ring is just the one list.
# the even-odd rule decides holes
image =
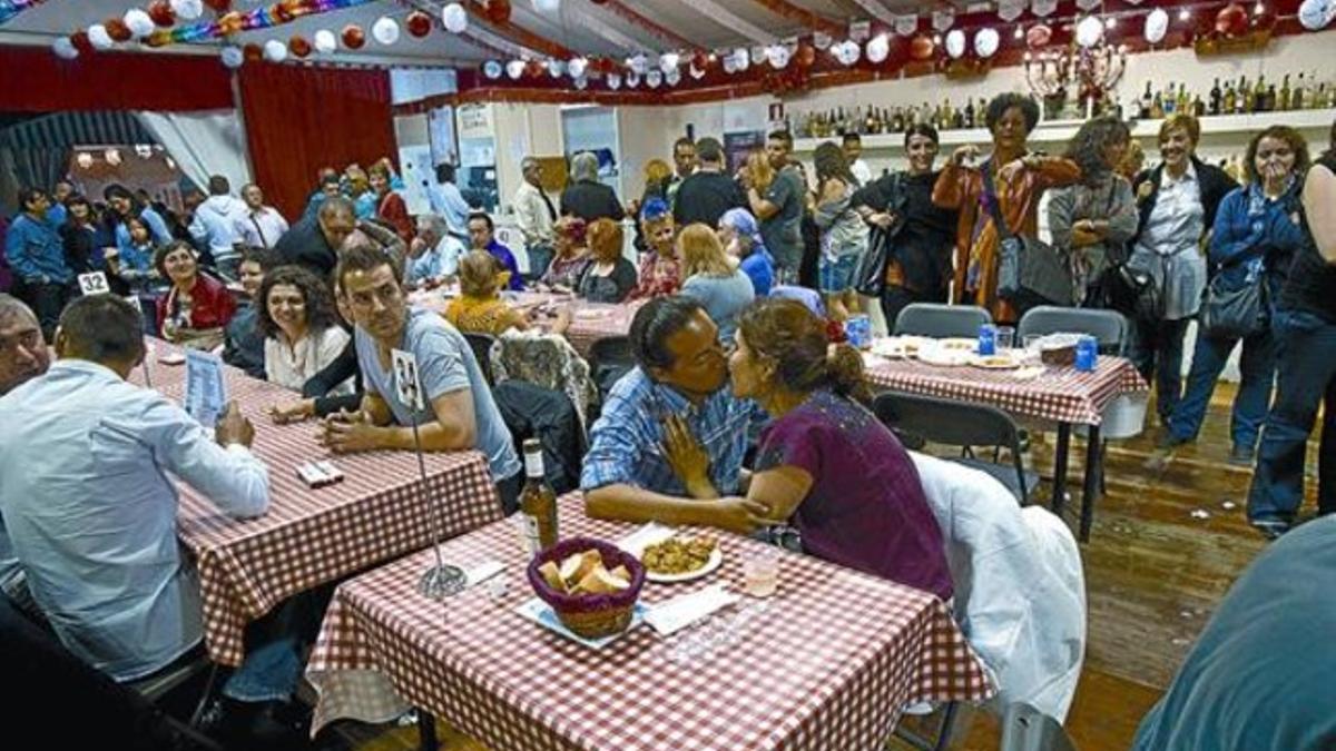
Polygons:
[[1053,246],[1038,238],[1019,237],[1011,233],[1002,219],[997,192],[993,187],[993,171],[983,166],[983,200],[993,226],[997,227],[998,245],[998,297],[1021,310],[1038,305],[1058,305],[1070,307],[1071,270],[1066,259]]

